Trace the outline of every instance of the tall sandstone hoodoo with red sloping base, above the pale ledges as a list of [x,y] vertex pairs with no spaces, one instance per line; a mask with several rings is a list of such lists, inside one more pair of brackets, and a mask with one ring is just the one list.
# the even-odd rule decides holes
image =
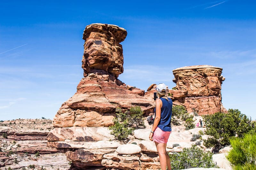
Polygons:
[[144,90],[117,79],[123,73],[123,48],[127,32],[108,24],[85,27],[82,68],[84,78],[77,92],[62,104],[53,119],[54,127],[104,127],[113,125],[116,107],[129,109],[140,106],[152,112],[153,101],[143,98]]

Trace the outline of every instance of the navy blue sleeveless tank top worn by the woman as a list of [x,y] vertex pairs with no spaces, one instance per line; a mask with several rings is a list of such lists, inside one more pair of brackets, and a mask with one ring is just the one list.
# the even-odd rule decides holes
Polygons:
[[[164,98],[160,98],[163,104],[161,107],[161,119],[157,127],[162,129],[163,131],[172,131],[172,128],[171,128],[172,99],[170,98],[168,99],[169,101],[167,101]],[[155,108],[155,117],[156,117],[156,108]]]

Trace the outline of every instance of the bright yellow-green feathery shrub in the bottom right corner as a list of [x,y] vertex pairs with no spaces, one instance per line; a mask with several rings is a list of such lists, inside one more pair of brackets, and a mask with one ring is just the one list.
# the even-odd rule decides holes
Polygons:
[[230,144],[232,149],[227,159],[234,170],[256,169],[256,133],[245,134],[243,138],[232,137]]

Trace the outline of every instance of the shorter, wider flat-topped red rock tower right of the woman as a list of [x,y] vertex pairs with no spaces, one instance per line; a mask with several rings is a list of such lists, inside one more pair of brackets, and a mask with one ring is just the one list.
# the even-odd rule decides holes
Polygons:
[[181,67],[173,70],[176,89],[169,91],[174,101],[193,108],[199,115],[226,112],[221,103],[221,84],[225,78],[221,75],[222,68],[209,65]]

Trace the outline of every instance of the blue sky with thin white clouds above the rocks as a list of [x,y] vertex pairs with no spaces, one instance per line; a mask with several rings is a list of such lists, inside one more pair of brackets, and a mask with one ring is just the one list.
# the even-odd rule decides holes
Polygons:
[[83,77],[86,25],[115,24],[124,83],[175,86],[172,70],[222,67],[224,107],[256,119],[254,1],[1,1],[0,120],[50,118]]

